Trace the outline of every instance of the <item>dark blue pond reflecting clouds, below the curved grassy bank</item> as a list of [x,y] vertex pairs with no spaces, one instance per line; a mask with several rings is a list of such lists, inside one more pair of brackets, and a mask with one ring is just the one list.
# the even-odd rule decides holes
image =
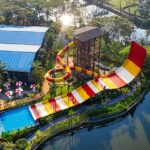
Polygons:
[[47,141],[42,150],[150,150],[150,90],[125,118]]

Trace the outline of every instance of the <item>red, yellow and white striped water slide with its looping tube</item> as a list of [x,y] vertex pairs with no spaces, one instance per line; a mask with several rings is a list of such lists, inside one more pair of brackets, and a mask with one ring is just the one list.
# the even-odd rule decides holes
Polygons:
[[131,43],[128,57],[124,61],[123,65],[111,74],[100,75],[80,67],[69,67],[64,63],[62,59],[64,53],[70,48],[73,48],[76,44],[78,44],[78,42],[71,42],[56,56],[57,62],[63,67],[63,69],[58,69],[56,72],[65,70],[65,75],[60,78],[53,78],[51,77],[53,70],[50,70],[46,73],[45,79],[49,82],[64,81],[71,76],[71,70],[92,75],[95,77],[95,79],[88,81],[72,92],[30,105],[29,109],[34,120],[38,120],[47,115],[51,115],[64,109],[79,105],[91,97],[94,97],[97,93],[102,92],[103,90],[124,87],[133,79],[135,79],[136,76],[140,73],[146,57],[146,49],[133,41]]

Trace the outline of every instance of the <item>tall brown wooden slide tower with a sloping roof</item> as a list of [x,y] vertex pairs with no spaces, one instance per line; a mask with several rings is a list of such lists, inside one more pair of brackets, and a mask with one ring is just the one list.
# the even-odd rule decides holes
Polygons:
[[98,27],[83,27],[74,32],[75,40],[80,44],[75,47],[73,54],[74,66],[79,66],[91,71],[98,71],[100,63],[102,31]]

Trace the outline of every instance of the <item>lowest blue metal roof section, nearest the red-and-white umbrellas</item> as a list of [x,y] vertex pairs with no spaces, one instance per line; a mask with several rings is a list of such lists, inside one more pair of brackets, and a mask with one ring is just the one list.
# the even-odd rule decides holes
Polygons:
[[6,64],[6,70],[30,72],[36,53],[0,51],[0,61]]

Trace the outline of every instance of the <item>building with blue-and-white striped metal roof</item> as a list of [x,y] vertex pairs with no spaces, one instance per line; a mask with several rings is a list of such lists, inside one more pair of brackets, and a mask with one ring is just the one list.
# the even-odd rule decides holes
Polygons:
[[10,77],[28,78],[47,27],[0,25],[0,61]]

